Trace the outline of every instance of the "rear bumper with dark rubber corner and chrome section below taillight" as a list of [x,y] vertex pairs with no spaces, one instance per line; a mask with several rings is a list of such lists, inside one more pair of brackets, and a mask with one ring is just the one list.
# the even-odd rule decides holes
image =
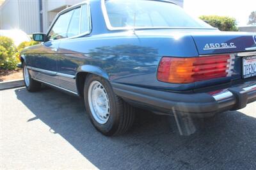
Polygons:
[[112,83],[116,95],[127,102],[150,108],[151,111],[171,114],[173,111],[196,117],[209,117],[217,112],[237,110],[256,101],[256,81],[209,93],[173,93]]

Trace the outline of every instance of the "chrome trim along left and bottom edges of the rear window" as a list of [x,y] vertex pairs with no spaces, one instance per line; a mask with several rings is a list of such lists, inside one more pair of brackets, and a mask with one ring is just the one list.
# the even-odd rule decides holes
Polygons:
[[[100,5],[101,5],[101,10],[102,10],[102,13],[103,13],[104,20],[105,20],[105,24],[106,24],[109,31],[132,30],[132,29],[211,29],[211,30],[216,30],[217,29],[216,27],[209,27],[209,28],[208,27],[132,27],[132,26],[129,26],[129,27],[113,27],[113,26],[111,26],[111,23],[110,23],[110,20],[109,20],[109,17],[108,17],[108,12],[107,12],[107,8],[106,8],[106,5],[105,5],[105,1],[106,0],[101,0]],[[155,0],[153,0],[153,1],[155,1]],[[172,3],[170,1],[162,1],[162,2],[175,4],[175,3]]]

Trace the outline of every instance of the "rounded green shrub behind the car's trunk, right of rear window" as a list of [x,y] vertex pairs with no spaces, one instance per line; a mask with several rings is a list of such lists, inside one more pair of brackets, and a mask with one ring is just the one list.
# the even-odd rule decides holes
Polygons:
[[221,17],[217,15],[203,15],[200,19],[205,20],[212,27],[217,27],[221,31],[238,31],[236,19],[231,17]]

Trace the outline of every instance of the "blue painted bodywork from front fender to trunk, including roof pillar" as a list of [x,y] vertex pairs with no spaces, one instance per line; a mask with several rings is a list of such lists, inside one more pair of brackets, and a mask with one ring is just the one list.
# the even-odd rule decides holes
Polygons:
[[[157,81],[157,67],[163,56],[197,57],[244,51],[255,47],[252,35],[221,33],[216,29],[145,29],[109,31],[100,8],[100,1],[90,1],[92,32],[90,35],[54,42],[45,42],[24,50],[29,66],[76,76],[90,72],[121,84],[144,88],[185,91],[214,86],[241,79],[241,66],[236,58],[234,75],[191,84],[170,84]],[[251,37],[252,40],[249,40]],[[243,41],[248,43],[244,43]],[[237,49],[202,50],[206,43],[235,42]],[[58,48],[58,52],[52,49]],[[32,73],[35,74],[35,73]],[[39,72],[40,75],[40,72]],[[37,76],[37,75],[35,75]],[[76,92],[76,80],[49,74],[59,79],[55,85]],[[76,78],[76,77],[75,77]],[[48,79],[48,78],[47,78]]]

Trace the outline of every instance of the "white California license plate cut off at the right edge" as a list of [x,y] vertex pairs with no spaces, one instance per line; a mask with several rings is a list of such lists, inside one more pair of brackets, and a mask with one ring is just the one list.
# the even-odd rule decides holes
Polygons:
[[243,77],[253,77],[256,75],[256,56],[248,56],[243,58]]

